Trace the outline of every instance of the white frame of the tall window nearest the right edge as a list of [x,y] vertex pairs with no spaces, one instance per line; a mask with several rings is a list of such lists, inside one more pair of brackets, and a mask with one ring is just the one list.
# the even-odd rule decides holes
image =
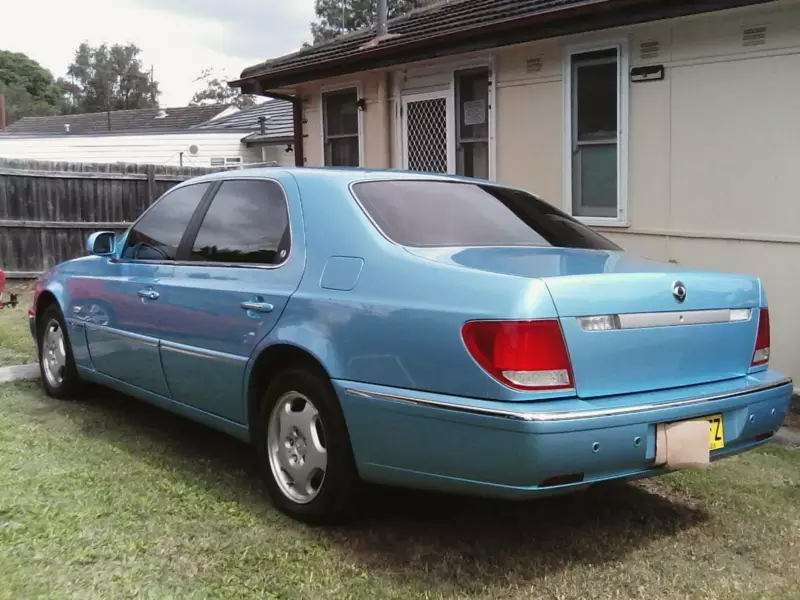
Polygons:
[[563,208],[572,215],[572,57],[597,50],[617,50],[617,217],[580,217],[582,223],[600,227],[628,227],[628,138],[630,135],[630,53],[627,39],[571,44],[564,51],[564,175]]

